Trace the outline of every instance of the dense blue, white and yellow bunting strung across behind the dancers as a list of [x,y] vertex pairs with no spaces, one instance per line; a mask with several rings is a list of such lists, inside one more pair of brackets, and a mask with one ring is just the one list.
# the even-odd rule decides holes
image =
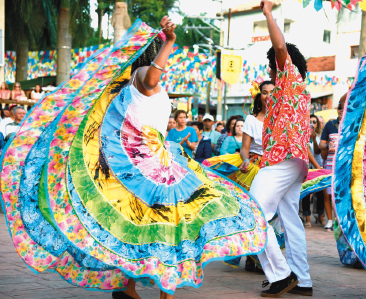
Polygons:
[[[73,49],[71,55],[72,74],[85,60],[99,49],[109,47],[110,44],[101,44],[88,48]],[[42,76],[56,75],[56,51],[29,52],[28,79]],[[16,53],[6,52],[5,78],[7,82],[15,81]],[[229,95],[232,92],[249,91],[250,84],[256,78],[268,78],[268,66],[266,64],[249,64],[243,59],[242,72],[239,83],[229,86]],[[212,93],[217,93],[216,81],[216,57],[205,53],[193,53],[188,47],[175,46],[169,56],[162,85],[169,93],[185,93],[199,95],[199,102],[206,101],[207,82],[211,82]],[[306,84],[309,86],[335,86],[346,84],[351,86],[353,78],[338,78],[324,73],[308,72]]]

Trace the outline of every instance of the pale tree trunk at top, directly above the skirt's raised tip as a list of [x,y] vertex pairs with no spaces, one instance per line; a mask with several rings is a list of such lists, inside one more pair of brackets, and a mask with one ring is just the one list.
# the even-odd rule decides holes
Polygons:
[[116,5],[112,15],[112,26],[114,28],[114,44],[126,33],[131,27],[131,19],[128,15],[127,3],[122,0],[116,0]]

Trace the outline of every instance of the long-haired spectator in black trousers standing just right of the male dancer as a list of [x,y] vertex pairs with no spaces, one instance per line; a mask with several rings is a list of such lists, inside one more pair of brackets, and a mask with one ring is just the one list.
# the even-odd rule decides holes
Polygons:
[[[323,165],[323,159],[320,154],[320,137],[321,137],[321,123],[317,116],[310,115],[310,147],[309,147],[309,161],[311,169],[320,169],[321,165]],[[316,197],[316,207],[317,207],[317,222],[326,225],[323,214],[324,214],[324,191],[319,191],[314,194],[313,199]],[[313,201],[315,202],[315,201]],[[305,227],[311,227],[310,222],[310,195],[306,196],[302,200],[302,213],[305,217]]]

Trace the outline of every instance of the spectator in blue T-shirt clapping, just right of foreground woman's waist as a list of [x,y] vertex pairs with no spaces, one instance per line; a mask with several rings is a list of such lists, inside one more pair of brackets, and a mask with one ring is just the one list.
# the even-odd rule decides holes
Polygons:
[[192,151],[196,148],[196,142],[198,141],[196,130],[187,127],[187,112],[184,110],[175,112],[174,120],[177,126],[169,131],[166,140],[179,143],[184,151],[192,157]]

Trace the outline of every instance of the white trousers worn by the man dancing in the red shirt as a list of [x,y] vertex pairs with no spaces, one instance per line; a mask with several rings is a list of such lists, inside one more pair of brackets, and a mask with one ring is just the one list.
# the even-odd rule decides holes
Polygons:
[[259,170],[250,193],[258,201],[268,220],[278,213],[285,235],[286,259],[282,255],[273,228],[268,225],[268,243],[258,255],[270,283],[282,280],[293,271],[300,287],[311,287],[306,256],[305,229],[298,216],[301,184],[306,163],[294,158]]

